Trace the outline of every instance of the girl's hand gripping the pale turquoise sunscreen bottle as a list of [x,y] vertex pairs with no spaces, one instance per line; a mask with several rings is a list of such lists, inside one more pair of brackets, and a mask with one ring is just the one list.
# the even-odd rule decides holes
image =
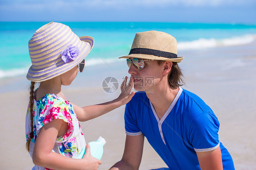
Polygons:
[[86,145],[86,152],[82,159],[87,160],[87,166],[85,167],[85,170],[97,170],[99,165],[102,164],[100,160],[94,158],[91,155],[91,147],[89,144]]

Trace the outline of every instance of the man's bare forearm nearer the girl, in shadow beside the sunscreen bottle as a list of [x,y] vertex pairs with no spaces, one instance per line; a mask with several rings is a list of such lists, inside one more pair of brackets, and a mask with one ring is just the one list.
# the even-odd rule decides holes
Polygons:
[[143,153],[144,135],[126,135],[123,158],[110,170],[138,170]]

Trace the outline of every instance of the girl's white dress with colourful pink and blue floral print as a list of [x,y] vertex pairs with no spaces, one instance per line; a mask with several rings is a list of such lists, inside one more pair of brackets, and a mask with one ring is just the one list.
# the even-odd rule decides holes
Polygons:
[[[28,106],[26,113],[26,140],[29,139],[31,132],[30,109]],[[63,100],[61,97],[54,94],[47,94],[40,100],[34,100],[33,106],[33,119],[34,119],[34,138],[30,143],[30,155],[35,145],[37,134],[41,127],[51,122],[54,119],[61,119],[68,123],[68,130],[66,134],[56,138],[55,145],[52,149],[53,152],[61,155],[77,158],[82,149],[86,146],[86,142],[77,119],[77,115],[73,106],[69,101]],[[32,170],[49,170],[35,165]]]

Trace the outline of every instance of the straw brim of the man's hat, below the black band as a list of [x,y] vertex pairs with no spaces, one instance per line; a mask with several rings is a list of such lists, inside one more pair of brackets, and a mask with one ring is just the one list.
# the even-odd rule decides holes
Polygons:
[[119,59],[128,59],[128,58],[140,58],[140,59],[148,59],[148,60],[164,60],[164,61],[172,61],[172,62],[177,62],[177,63],[179,63],[181,60],[184,59],[184,57],[169,59],[166,57],[160,57],[160,56],[156,56],[156,55],[146,55],[146,54],[130,54],[130,55],[125,55],[123,57],[119,57]]

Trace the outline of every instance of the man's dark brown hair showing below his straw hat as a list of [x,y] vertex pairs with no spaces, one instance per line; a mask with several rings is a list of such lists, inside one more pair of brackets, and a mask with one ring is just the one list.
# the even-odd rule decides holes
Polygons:
[[[158,65],[161,65],[164,62],[164,60],[157,60]],[[171,89],[176,89],[184,84],[183,74],[177,62],[173,62],[172,68],[168,75],[168,83]]]

